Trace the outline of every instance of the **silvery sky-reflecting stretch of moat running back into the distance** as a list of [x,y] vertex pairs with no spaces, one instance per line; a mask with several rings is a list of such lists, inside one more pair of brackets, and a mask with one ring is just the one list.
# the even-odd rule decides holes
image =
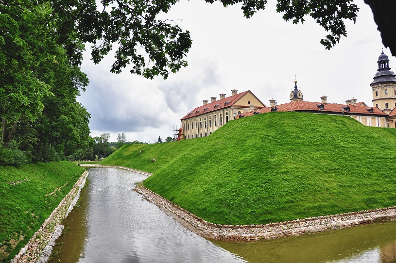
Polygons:
[[[116,168],[89,169],[89,187],[75,208],[80,235],[70,230],[52,262],[245,262],[186,230],[133,191],[145,176]],[[71,248],[74,244],[82,247]],[[68,244],[68,245],[67,245]],[[68,248],[66,248],[68,247]],[[74,255],[70,255],[74,254]]]

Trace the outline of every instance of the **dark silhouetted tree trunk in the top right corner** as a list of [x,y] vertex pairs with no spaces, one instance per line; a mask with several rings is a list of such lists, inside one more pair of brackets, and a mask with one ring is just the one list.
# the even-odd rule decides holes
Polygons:
[[396,1],[395,0],[364,0],[373,11],[374,21],[381,33],[382,44],[396,56]]

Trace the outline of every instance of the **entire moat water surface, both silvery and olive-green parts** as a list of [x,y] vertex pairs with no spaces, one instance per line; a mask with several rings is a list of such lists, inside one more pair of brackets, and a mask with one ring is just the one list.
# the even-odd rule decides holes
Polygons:
[[396,222],[253,243],[209,241],[133,191],[146,176],[90,168],[51,262],[396,263]]

